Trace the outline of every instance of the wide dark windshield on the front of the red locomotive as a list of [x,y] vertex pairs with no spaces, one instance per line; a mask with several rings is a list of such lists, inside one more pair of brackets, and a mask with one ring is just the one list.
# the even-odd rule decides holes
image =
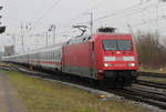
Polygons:
[[104,49],[106,51],[132,51],[132,40],[104,40]]

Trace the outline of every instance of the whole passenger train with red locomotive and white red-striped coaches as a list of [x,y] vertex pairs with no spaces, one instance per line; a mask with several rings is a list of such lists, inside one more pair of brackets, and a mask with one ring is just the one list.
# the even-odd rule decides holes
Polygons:
[[66,73],[66,77],[72,74],[124,86],[136,81],[138,69],[136,44],[132,34],[100,31],[2,59],[6,62],[60,71]]

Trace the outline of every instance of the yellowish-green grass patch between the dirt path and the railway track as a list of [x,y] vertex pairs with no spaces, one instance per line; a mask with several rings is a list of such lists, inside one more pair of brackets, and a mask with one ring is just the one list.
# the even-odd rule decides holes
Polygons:
[[9,75],[29,112],[152,112],[125,101],[102,101],[86,91],[19,72],[1,72]]

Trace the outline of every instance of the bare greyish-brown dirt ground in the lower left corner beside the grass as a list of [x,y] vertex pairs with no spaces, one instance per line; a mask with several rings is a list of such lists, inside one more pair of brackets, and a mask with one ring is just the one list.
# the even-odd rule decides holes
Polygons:
[[0,72],[0,112],[28,112],[8,75]]

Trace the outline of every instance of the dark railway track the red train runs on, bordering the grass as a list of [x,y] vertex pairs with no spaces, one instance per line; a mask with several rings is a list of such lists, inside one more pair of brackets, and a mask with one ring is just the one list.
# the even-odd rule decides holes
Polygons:
[[[28,71],[24,68],[20,69],[20,68],[6,68],[7,70],[15,70],[32,77],[38,77],[38,78],[43,78],[43,79],[48,79],[48,80],[59,80],[59,81],[64,81],[64,82],[69,82],[69,83],[74,83],[74,84],[79,84],[79,85],[83,85],[83,86],[87,86],[87,88],[92,88],[92,89],[97,89],[97,90],[102,90],[105,92],[110,92],[110,93],[114,93],[116,95],[123,96],[125,99],[129,99],[133,101],[138,101],[138,102],[145,102],[148,103],[151,105],[155,105],[158,106],[159,109],[166,110],[166,95],[165,93],[160,93],[160,92],[154,92],[151,90],[144,90],[144,89],[134,89],[134,88],[124,88],[124,89],[101,89],[101,88],[96,88],[92,84],[87,84],[86,82],[84,83],[84,81],[77,81],[76,80],[72,80],[66,78],[65,74],[61,74],[61,75],[52,75],[52,73],[42,73],[42,72],[32,72],[32,71]],[[139,83],[144,83],[144,81],[138,81]],[[146,84],[145,84],[146,85]],[[153,86],[153,85],[151,85]],[[158,86],[156,86],[158,88]],[[165,89],[165,88],[164,88]]]

